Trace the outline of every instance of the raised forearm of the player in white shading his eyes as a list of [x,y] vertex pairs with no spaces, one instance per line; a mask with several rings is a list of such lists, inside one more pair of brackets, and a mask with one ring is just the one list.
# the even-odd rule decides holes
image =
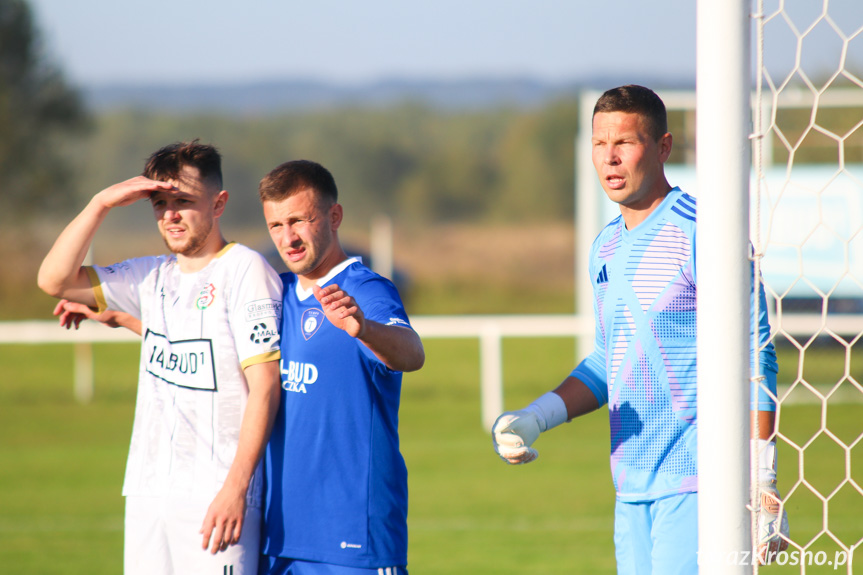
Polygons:
[[96,303],[90,280],[81,268],[96,230],[109,208],[95,196],[66,226],[39,268],[38,285],[48,295],[79,303]]

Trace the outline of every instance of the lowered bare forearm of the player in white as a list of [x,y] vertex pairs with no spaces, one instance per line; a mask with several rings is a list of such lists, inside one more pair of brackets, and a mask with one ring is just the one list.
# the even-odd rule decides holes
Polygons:
[[264,453],[279,409],[281,387],[278,365],[277,361],[270,361],[249,366],[245,370],[249,397],[240,425],[237,453],[225,478],[225,487],[243,494],[248,490],[252,474]]

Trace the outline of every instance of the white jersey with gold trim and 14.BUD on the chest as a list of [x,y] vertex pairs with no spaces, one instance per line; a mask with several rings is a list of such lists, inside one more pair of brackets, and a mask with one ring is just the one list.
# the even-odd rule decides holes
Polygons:
[[[280,357],[281,280],[264,258],[228,244],[204,269],[174,255],[89,268],[100,309],[141,318],[135,423],[123,495],[210,501],[237,451],[243,369]],[[260,506],[259,466],[248,502]]]

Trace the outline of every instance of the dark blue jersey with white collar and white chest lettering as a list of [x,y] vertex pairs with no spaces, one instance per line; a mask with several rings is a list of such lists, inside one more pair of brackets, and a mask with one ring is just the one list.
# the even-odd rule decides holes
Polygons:
[[[407,564],[401,372],[332,325],[282,274],[282,401],[266,452],[263,553],[360,568]],[[395,286],[351,259],[319,281],[367,319],[409,326]]]

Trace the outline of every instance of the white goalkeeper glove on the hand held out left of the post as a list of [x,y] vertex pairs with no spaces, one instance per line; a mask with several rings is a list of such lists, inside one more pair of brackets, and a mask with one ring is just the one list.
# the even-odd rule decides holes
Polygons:
[[492,444],[510,465],[530,463],[539,453],[531,447],[539,434],[567,420],[566,404],[550,391],[519,411],[500,415],[491,428]]

